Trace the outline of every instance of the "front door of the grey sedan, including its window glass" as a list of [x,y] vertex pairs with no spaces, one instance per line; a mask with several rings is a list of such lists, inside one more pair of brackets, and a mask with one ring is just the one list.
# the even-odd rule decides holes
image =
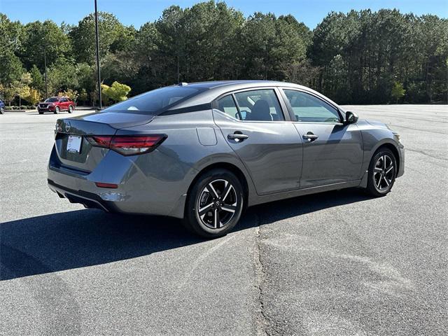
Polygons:
[[283,94],[304,140],[300,188],[360,179],[363,141],[358,126],[344,124],[336,106],[311,92],[283,88]]

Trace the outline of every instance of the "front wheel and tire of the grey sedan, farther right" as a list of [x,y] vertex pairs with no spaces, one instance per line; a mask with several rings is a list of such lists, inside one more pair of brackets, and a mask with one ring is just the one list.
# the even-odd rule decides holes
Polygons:
[[[385,162],[385,163],[384,163]],[[391,192],[397,176],[397,159],[388,148],[379,148],[370,160],[367,193],[382,197]]]

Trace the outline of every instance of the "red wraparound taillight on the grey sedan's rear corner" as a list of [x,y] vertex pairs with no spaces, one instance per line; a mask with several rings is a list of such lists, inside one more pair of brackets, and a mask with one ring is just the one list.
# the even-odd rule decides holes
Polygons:
[[165,139],[167,139],[165,134],[87,137],[92,146],[109,148],[122,155],[137,155],[154,151]]

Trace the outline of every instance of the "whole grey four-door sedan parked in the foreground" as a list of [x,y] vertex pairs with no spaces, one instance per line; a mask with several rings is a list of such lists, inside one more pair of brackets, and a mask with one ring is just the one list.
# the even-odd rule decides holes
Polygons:
[[183,218],[204,237],[225,235],[255,204],[349,187],[384,196],[405,167],[387,125],[272,81],[164,87],[59,119],[55,132],[48,186],[59,197]]

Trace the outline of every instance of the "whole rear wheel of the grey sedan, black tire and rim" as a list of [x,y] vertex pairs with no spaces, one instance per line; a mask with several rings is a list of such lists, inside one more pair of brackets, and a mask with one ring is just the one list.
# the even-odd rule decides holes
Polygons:
[[[204,173],[188,195],[183,224],[202,237],[227,235],[241,217],[243,193],[241,182],[232,172],[213,169]],[[202,214],[199,211],[201,206]]]

